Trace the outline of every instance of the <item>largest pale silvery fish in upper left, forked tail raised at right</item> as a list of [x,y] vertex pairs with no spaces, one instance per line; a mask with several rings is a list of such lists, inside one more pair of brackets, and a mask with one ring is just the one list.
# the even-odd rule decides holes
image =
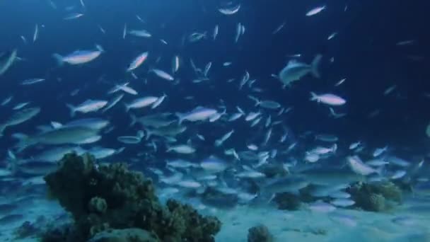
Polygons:
[[62,56],[60,54],[52,54],[52,57],[57,60],[57,64],[61,67],[64,62],[71,65],[85,64],[93,61],[104,52],[100,45],[95,45],[96,50],[76,50],[71,54]]

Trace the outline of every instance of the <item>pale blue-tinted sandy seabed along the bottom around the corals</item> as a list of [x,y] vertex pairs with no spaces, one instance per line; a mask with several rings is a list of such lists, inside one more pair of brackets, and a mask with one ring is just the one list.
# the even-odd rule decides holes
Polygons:
[[[238,206],[234,209],[211,209],[208,214],[215,215],[223,222],[216,241],[247,241],[248,229],[263,224],[274,236],[274,241],[294,242],[430,242],[430,200],[407,200],[405,204],[390,213],[361,212],[352,209],[337,209],[332,213],[300,211],[281,211],[274,207]],[[38,241],[37,238],[15,239],[13,231],[24,221],[33,222],[43,215],[59,217],[64,211],[57,202],[43,199],[33,200],[16,212],[24,214],[21,221],[2,225],[0,241]],[[205,213],[205,211],[202,211]],[[337,215],[354,217],[354,223],[334,219]],[[393,219],[407,217],[403,223]]]

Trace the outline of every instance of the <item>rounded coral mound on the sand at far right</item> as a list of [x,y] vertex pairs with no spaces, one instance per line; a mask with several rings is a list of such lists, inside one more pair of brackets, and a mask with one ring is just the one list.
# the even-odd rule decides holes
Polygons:
[[402,203],[402,190],[394,183],[356,183],[347,190],[357,208],[385,212]]

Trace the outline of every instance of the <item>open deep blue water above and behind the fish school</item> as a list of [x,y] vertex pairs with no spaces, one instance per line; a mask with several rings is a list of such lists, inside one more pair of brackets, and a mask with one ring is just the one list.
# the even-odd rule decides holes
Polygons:
[[[225,100],[229,112],[236,105],[248,110],[252,101],[246,96],[248,89],[238,91],[238,83],[226,83],[227,79],[240,79],[245,70],[256,86],[263,88],[264,98],[277,100],[294,110],[286,115],[286,123],[296,133],[307,130],[335,133],[344,144],[361,139],[373,146],[412,146],[425,149],[424,134],[430,121],[429,86],[429,1],[243,1],[240,11],[233,16],[223,16],[217,8],[220,1],[165,0],[165,1],[85,1],[85,16],[74,21],[64,21],[69,13],[67,6],[76,6],[71,12],[81,12],[79,1],[54,1],[57,9],[46,1],[0,2],[0,50],[18,48],[18,62],[4,76],[0,76],[0,97],[13,94],[14,101],[32,101],[42,107],[42,115],[21,125],[23,132],[33,132],[35,125],[69,119],[65,103],[80,103],[86,98],[105,98],[113,83],[130,80],[124,69],[137,54],[149,51],[145,67],[136,74],[147,78],[132,81],[142,95],[170,94],[163,111],[185,111],[197,103],[217,105]],[[327,9],[317,16],[306,17],[314,6],[327,4]],[[349,8],[344,11],[344,6]],[[139,14],[146,23],[140,23]],[[236,24],[245,25],[245,35],[234,43]],[[277,35],[272,31],[281,23],[285,27]],[[35,23],[40,27],[37,42],[31,42]],[[127,37],[122,39],[122,28],[146,29],[151,39]],[[211,31],[219,25],[216,41],[204,40],[181,45],[183,36],[193,32]],[[106,34],[98,29],[101,25]],[[333,40],[327,36],[338,35]],[[28,44],[24,45],[20,35]],[[163,39],[168,45],[159,41]],[[402,40],[417,40],[412,46],[396,46]],[[57,68],[53,53],[68,54],[74,50],[91,49],[102,45],[106,52],[95,62],[83,67]],[[289,58],[287,54],[301,53],[305,62],[322,52],[325,58],[321,66],[322,78],[306,76],[291,89],[281,89],[281,84],[270,75],[277,74]],[[177,75],[182,81],[173,86],[147,74],[150,67],[170,70],[173,55],[182,59],[182,69]],[[423,57],[412,61],[408,56]],[[157,57],[161,62],[155,63]],[[335,62],[330,64],[330,58]],[[213,62],[209,83],[191,83],[195,78],[190,68],[190,58],[204,68]],[[223,68],[223,62],[233,62]],[[45,77],[47,81],[35,86],[20,86],[24,79]],[[342,86],[334,84],[347,78]],[[388,86],[397,84],[389,96],[383,96]],[[75,97],[69,93],[80,88]],[[347,105],[337,108],[338,113],[348,113],[342,119],[328,117],[328,109],[310,102],[309,92],[337,93],[347,99]],[[240,94],[240,95],[238,95]],[[196,96],[197,101],[187,101],[185,96]],[[131,99],[128,97],[129,100]],[[246,104],[244,104],[246,103]],[[377,117],[368,118],[373,110],[380,110]],[[1,118],[10,115],[8,108],[1,107]],[[123,110],[109,114],[116,126],[127,124]],[[227,128],[228,129],[228,128]],[[14,129],[16,132],[17,128]],[[228,129],[229,130],[229,129]],[[228,131],[226,130],[226,131]],[[6,131],[11,134],[12,131]],[[124,132],[114,133],[124,134]],[[115,135],[113,135],[115,137]],[[2,147],[8,147],[9,139],[1,139]]]

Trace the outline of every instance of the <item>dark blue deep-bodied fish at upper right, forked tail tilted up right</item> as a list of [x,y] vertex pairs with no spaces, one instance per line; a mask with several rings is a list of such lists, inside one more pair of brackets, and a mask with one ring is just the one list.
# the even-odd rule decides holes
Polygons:
[[315,76],[315,78],[320,78],[318,67],[321,59],[322,55],[318,54],[315,56],[311,64],[291,60],[283,69],[281,69],[281,71],[279,71],[279,80],[284,83],[285,86],[291,86],[291,83],[300,80],[303,76],[306,76],[309,73]]

